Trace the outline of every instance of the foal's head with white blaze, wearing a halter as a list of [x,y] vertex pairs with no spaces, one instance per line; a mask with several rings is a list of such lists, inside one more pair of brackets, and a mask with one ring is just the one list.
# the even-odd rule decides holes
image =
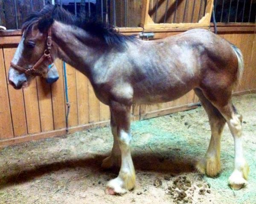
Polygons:
[[51,39],[53,20],[31,18],[23,25],[23,35],[9,69],[9,82],[15,89],[29,85],[35,76],[48,83],[58,80],[58,71],[53,64],[57,50]]

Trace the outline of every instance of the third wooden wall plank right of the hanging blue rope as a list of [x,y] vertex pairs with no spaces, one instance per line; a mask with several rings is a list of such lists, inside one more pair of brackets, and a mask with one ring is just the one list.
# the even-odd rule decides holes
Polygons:
[[99,116],[99,100],[97,99],[93,87],[88,80],[88,99],[89,99],[89,122],[98,122]]

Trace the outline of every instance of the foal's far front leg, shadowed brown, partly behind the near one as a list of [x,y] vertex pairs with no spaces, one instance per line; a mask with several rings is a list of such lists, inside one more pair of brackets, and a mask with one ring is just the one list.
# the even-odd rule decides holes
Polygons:
[[111,155],[102,161],[102,168],[104,169],[110,169],[112,167],[121,166],[121,152],[118,145],[117,127],[116,127],[116,122],[113,118],[113,113],[111,113],[110,125],[111,125],[111,132],[113,134],[113,147],[112,147]]

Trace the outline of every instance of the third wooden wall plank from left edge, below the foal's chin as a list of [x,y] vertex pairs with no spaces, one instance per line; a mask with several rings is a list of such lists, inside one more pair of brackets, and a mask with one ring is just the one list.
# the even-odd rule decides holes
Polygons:
[[23,97],[26,110],[28,133],[32,134],[41,132],[38,107],[38,93],[35,79],[30,82],[29,87],[23,89]]

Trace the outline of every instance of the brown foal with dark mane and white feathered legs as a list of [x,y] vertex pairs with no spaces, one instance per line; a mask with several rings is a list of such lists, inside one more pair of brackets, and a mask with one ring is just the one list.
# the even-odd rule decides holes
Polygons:
[[75,17],[58,6],[32,13],[9,69],[9,83],[25,88],[39,75],[58,79],[56,58],[90,80],[97,98],[111,112],[113,147],[103,168],[120,167],[105,192],[124,194],[135,187],[131,158],[130,111],[134,104],[168,102],[194,90],[207,112],[211,139],[196,169],[207,176],[220,173],[221,133],[227,123],[234,139],[234,190],[247,184],[249,166],[243,156],[242,116],[232,103],[244,63],[235,45],[205,29],[192,29],[160,40],[125,36],[111,26]]

